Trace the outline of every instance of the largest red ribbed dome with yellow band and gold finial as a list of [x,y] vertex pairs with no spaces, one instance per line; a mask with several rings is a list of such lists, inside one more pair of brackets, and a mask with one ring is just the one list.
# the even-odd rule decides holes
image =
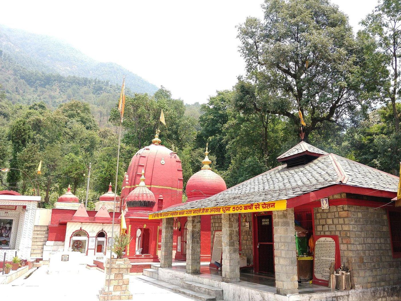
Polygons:
[[[121,197],[126,199],[140,183],[141,171],[146,170],[146,187],[155,195],[164,197],[163,209],[182,202],[182,167],[177,154],[161,145],[159,131],[152,144],[138,150],[132,157],[123,181]],[[155,205],[153,211],[158,206]]]

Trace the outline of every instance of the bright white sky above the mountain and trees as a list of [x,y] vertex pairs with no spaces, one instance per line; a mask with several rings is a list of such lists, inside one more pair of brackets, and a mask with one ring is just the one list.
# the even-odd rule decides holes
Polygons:
[[[112,61],[184,102],[207,102],[244,73],[235,26],[261,18],[263,0],[14,0],[3,1],[0,23],[57,37],[89,57]],[[332,0],[350,24],[377,0]]]

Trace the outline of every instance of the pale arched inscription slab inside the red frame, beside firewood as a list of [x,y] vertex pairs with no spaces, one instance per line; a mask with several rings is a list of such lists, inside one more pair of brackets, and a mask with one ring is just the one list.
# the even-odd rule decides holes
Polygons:
[[336,242],[331,237],[316,240],[313,273],[316,279],[328,280],[330,264],[336,258]]

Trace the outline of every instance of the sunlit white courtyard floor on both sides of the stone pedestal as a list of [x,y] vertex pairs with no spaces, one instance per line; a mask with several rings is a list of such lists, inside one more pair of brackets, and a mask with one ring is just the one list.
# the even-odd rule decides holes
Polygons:
[[[31,270],[32,271],[32,270]],[[51,300],[51,301],[98,301],[97,294],[104,281],[99,270],[89,270],[80,266],[79,273],[46,274],[47,266],[38,268],[30,277],[20,277],[10,284],[0,285],[4,300]],[[194,300],[174,293],[164,287],[130,276],[130,291],[137,301],[185,301]]]

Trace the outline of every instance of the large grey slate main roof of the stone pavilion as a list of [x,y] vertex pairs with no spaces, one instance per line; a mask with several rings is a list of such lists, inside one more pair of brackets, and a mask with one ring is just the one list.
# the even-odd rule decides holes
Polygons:
[[[316,147],[314,151],[324,153]],[[396,192],[398,181],[396,176],[326,153],[304,165],[280,165],[206,199],[174,205],[160,212],[278,201],[336,184]]]

